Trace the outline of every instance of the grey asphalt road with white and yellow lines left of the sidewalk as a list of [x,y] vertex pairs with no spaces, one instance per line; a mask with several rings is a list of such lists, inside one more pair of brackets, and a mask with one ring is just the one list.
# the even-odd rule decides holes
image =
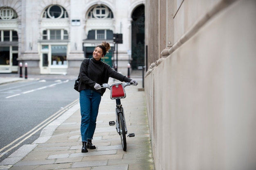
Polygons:
[[29,81],[0,85],[0,162],[79,100],[76,76],[34,76]]

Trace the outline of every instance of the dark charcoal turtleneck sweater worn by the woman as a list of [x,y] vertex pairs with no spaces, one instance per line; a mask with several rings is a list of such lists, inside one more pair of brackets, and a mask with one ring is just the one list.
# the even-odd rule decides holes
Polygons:
[[119,81],[130,82],[132,79],[120,74],[113,70],[108,64],[101,61],[95,60],[92,58],[87,68],[87,61],[88,59],[83,59],[80,67],[80,82],[78,91],[84,89],[92,89],[96,92],[99,92],[101,96],[103,96],[106,89],[94,89],[95,83],[102,85],[103,83],[108,83],[108,78],[112,77]]

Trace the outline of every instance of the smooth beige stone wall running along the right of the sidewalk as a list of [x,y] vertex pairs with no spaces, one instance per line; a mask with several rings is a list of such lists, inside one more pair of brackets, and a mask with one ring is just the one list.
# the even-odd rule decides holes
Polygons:
[[255,170],[256,1],[167,3],[173,27],[160,30],[173,29],[173,46],[145,74],[155,169]]

